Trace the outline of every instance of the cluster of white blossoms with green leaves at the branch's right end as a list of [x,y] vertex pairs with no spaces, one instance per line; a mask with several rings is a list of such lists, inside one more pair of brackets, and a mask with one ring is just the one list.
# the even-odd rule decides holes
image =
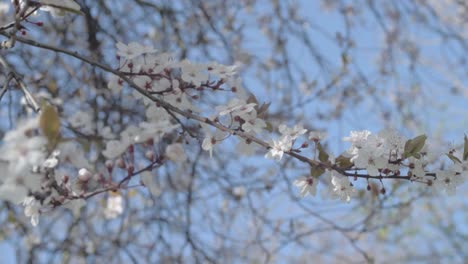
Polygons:
[[[451,165],[441,170],[430,171],[431,162],[443,156],[431,144],[426,144],[426,136],[421,135],[413,139],[406,139],[394,130],[383,130],[378,134],[372,134],[368,130],[352,131],[350,136],[343,138],[350,142],[351,147],[337,159],[325,152],[319,145],[319,160],[317,168],[313,169],[310,176],[300,177],[294,184],[300,189],[302,197],[310,194],[314,196],[317,190],[318,177],[325,170],[318,170],[321,165],[330,171],[331,193],[334,197],[349,202],[356,190],[348,177],[377,179],[404,179],[427,184],[436,191],[454,194],[456,188],[468,178],[468,138],[465,136],[465,144],[461,157],[454,155],[455,150],[450,150],[446,156],[451,160]],[[316,144],[320,140],[316,140]],[[272,147],[272,149],[275,146]],[[273,150],[270,150],[272,152]],[[277,150],[274,150],[277,151]],[[291,151],[290,146],[286,150]],[[324,158],[324,157],[328,157]],[[320,171],[314,174],[315,171]],[[365,174],[358,174],[365,171]],[[370,185],[368,184],[370,190]],[[385,193],[385,189],[381,191]]]

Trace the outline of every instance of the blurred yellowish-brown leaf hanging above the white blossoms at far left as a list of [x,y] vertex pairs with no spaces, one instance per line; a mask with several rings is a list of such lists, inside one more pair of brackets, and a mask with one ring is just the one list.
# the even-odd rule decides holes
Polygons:
[[43,103],[41,117],[39,118],[39,127],[42,134],[47,138],[49,143],[54,144],[60,135],[60,117],[55,109],[50,104]]

